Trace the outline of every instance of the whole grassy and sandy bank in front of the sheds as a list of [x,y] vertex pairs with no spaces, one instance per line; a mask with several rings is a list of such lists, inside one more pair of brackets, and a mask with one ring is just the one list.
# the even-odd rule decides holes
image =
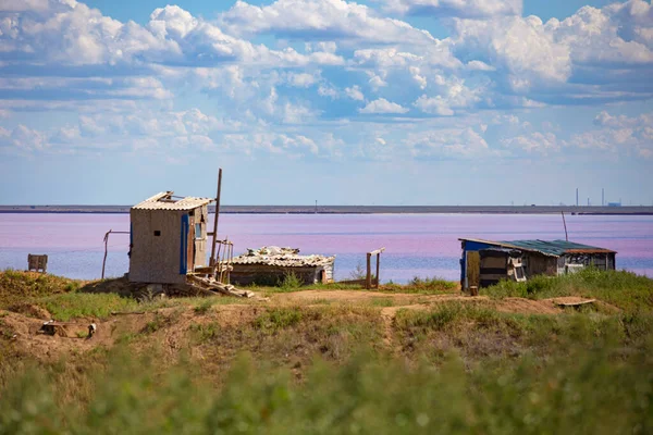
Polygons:
[[[23,275],[0,274],[0,434],[653,433],[653,281],[626,272],[147,303]],[[98,336],[27,334],[26,307]]]

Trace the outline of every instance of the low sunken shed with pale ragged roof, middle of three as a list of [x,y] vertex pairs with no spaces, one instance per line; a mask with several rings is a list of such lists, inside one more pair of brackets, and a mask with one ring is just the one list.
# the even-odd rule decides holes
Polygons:
[[294,274],[305,285],[333,282],[335,256],[300,256],[299,249],[266,246],[234,257],[231,282],[237,285],[278,285]]

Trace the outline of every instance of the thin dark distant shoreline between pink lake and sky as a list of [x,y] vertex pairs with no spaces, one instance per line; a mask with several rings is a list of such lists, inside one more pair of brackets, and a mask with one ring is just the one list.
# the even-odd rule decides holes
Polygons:
[[[0,206],[0,213],[128,213],[131,206]],[[213,212],[213,207],[209,207]],[[225,214],[606,214],[651,215],[653,207],[592,206],[222,206]]]

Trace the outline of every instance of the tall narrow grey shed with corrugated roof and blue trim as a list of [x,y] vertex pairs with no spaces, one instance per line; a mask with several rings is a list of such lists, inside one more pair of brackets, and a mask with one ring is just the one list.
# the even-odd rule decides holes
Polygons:
[[207,263],[208,204],[212,198],[163,191],[130,211],[130,281],[182,284]]

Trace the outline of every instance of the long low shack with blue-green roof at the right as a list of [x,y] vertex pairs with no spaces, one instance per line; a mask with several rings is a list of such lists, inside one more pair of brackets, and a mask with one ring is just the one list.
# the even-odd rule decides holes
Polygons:
[[[493,241],[460,238],[460,286],[484,287],[500,279],[565,275],[587,266],[615,270],[613,250],[566,240]],[[482,261],[485,259],[484,261]]]

